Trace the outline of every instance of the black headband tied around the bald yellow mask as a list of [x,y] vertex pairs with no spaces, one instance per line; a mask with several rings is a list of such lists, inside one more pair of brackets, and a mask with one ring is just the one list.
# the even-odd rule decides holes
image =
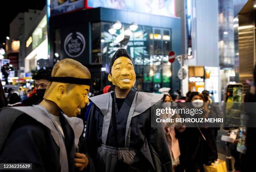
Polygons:
[[90,79],[83,79],[83,78],[74,78],[74,77],[50,77],[49,81],[51,82],[62,82],[62,83],[74,83],[79,85],[87,85],[90,86],[91,80]]

